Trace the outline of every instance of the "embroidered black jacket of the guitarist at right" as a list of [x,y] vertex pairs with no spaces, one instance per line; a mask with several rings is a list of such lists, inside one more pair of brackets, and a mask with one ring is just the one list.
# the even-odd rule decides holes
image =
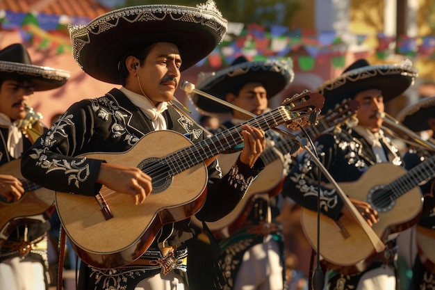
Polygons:
[[[379,142],[388,161],[401,166],[402,159],[390,138],[384,135]],[[338,129],[320,136],[315,140],[315,150],[320,162],[336,182],[354,182],[376,163],[372,147],[352,129]],[[321,181],[325,184],[330,183],[324,174]],[[318,166],[312,161],[310,154],[306,152],[299,154],[297,164],[286,177],[283,192],[302,207],[317,211]],[[343,201],[336,190],[321,186],[322,213],[337,219],[342,208]]]

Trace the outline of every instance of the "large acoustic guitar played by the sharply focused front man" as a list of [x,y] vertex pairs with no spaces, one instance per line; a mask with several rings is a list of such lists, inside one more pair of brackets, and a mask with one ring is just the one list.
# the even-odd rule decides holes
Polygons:
[[[286,99],[272,111],[243,124],[267,130],[279,124],[296,128],[311,124],[324,97],[306,92]],[[204,204],[204,163],[243,142],[243,124],[192,144],[174,131],[153,131],[123,153],[84,154],[140,168],[152,178],[153,191],[143,204],[103,186],[95,196],[56,192],[56,208],[77,255],[97,268],[130,264],[149,248],[163,225],[184,220]],[[164,144],[164,146],[162,146]],[[153,156],[147,156],[152,152]]]

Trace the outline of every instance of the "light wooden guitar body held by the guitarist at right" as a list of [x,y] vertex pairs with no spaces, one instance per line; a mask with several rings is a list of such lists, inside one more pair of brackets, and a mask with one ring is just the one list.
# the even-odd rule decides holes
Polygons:
[[[368,200],[370,191],[376,186],[389,184],[406,170],[392,163],[378,163],[370,167],[356,182],[339,183],[340,188],[350,198]],[[371,204],[373,207],[373,204]],[[375,207],[376,209],[376,207]],[[393,232],[407,229],[418,220],[422,209],[422,194],[418,186],[391,203],[391,208],[379,211],[379,222],[373,225],[380,239],[384,240]],[[334,222],[331,218],[320,215],[320,255],[331,264],[354,266],[375,252],[366,232],[354,219],[342,216]],[[302,209],[302,228],[313,249],[317,249],[317,212]],[[347,233],[347,234],[346,234]]]

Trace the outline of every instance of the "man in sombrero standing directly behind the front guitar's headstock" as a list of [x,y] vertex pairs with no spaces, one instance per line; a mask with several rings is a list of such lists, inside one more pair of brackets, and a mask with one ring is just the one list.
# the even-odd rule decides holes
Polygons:
[[[200,73],[197,89],[250,114],[261,115],[270,110],[269,99],[289,86],[293,78],[290,58],[280,61],[249,61],[245,56],[238,56],[231,65],[222,70]],[[219,104],[197,93],[188,96],[202,113],[231,114],[231,119],[223,122],[215,133],[252,118],[243,111]],[[285,137],[268,130],[266,138],[268,146],[273,147]],[[284,239],[281,225],[275,218],[279,215],[282,202],[279,196],[281,179],[286,175],[292,158],[286,152],[274,152],[278,162],[268,163],[266,168],[281,168],[281,172],[272,171],[277,178],[263,179],[261,188],[264,190],[259,189],[256,182],[260,180],[256,180],[243,202],[231,213],[233,218],[227,216],[219,220],[218,223],[223,223],[222,225],[208,223],[208,227],[220,241],[220,261],[227,276],[225,289],[285,289]],[[220,156],[222,169],[229,168],[224,162],[231,163],[231,155]],[[266,173],[266,170],[262,173]],[[241,216],[244,218],[240,218]]]

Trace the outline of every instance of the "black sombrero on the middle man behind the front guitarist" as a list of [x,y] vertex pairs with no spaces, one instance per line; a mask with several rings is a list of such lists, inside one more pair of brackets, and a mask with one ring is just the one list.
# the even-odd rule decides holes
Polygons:
[[[284,90],[294,79],[293,63],[290,58],[281,61],[248,61],[245,56],[239,56],[227,68],[218,72],[200,73],[197,89],[225,99],[227,92],[245,83],[262,83],[268,92],[268,99]],[[203,113],[227,113],[231,108],[217,104],[211,99],[188,94],[193,104]]]

